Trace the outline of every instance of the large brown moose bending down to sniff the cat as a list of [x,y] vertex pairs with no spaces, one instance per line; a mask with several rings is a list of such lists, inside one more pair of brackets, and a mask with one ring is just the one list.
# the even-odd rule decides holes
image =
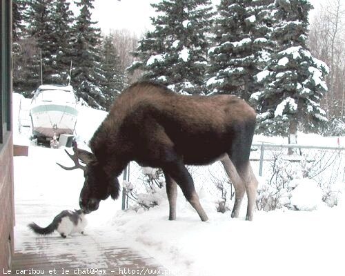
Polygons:
[[178,185],[201,221],[207,221],[186,165],[220,160],[235,187],[231,217],[239,216],[246,193],[246,220],[252,220],[257,179],[249,155],[255,121],[255,111],[239,97],[177,95],[161,84],[139,81],[113,103],[90,139],[92,152],[74,144],[74,155],[66,152],[75,166],[59,166],[83,169],[85,182],[79,205],[86,213],[97,210],[100,201],[109,196],[119,197],[117,177],[128,162],[136,161],[140,166],[163,170],[170,220],[176,219]]

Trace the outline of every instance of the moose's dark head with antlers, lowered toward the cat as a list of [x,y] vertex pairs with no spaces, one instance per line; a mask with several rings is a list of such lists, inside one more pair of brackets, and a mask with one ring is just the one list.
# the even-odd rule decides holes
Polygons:
[[[99,207],[101,200],[119,197],[119,181],[106,172],[105,167],[99,163],[96,156],[91,152],[77,148],[77,143],[73,142],[74,155],[65,150],[70,159],[75,162],[75,166],[66,167],[57,163],[65,170],[75,170],[81,168],[84,172],[84,185],[79,197],[79,206],[85,213],[95,211]],[[79,164],[79,160],[86,164]]]

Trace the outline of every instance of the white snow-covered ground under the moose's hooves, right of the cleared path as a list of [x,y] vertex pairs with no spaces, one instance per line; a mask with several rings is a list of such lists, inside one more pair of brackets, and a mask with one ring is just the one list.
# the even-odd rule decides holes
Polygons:
[[345,273],[339,254],[345,245],[344,209],[257,212],[251,222],[243,216],[230,219],[229,212],[207,212],[206,223],[181,201],[176,221],[168,221],[167,204],[140,215],[119,212],[110,222],[112,235],[124,237],[179,276]]

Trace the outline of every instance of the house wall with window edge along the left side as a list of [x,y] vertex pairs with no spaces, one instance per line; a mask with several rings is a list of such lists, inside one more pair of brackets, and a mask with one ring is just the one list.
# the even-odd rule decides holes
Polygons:
[[14,253],[12,0],[0,0],[0,275]]

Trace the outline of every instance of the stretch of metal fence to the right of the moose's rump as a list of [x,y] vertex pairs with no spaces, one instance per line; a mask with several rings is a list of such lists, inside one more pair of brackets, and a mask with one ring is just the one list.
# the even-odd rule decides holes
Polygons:
[[253,144],[250,160],[259,177],[272,175],[272,167],[279,162],[278,167],[297,170],[298,177],[323,186],[345,180],[345,148],[341,147]]

